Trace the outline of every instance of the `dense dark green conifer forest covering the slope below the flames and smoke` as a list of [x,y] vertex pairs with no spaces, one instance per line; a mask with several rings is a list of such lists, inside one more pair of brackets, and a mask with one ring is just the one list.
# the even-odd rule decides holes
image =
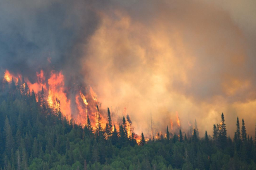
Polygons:
[[113,125],[108,110],[106,128],[76,125],[36,99],[25,82],[1,82],[0,169],[256,169],[256,138],[237,118],[234,139],[227,135],[224,115],[213,135],[201,138],[198,129],[158,133],[137,142],[126,131],[126,120]]

